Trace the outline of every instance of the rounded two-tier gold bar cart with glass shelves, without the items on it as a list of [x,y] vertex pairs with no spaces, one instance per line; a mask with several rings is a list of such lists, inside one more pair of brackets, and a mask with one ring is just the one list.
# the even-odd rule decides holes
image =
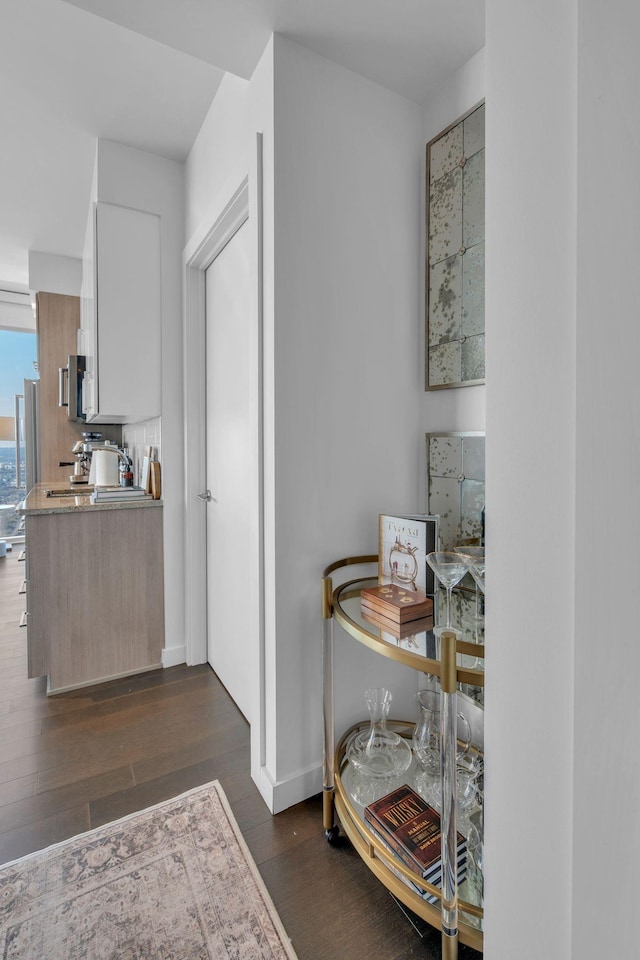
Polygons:
[[[340,560],[326,568],[322,578],[323,610],[323,705],[324,705],[324,806],[323,823],[329,842],[341,828],[369,869],[415,914],[442,931],[442,956],[453,960],[458,941],[476,950],[483,948],[482,935],[482,768],[483,710],[477,699],[461,691],[484,687],[484,646],[442,635],[434,644],[433,633],[411,628],[394,635],[364,612],[360,591],[377,584],[377,557]],[[334,588],[333,579],[349,576]],[[375,569],[375,573],[373,572]],[[364,571],[364,573],[363,573]],[[371,571],[367,575],[367,571]],[[355,571],[354,571],[355,572]],[[425,765],[416,751],[416,718],[389,720],[390,735],[398,735],[410,755],[408,767],[389,776],[368,776],[358,764],[359,749],[368,736],[371,717],[347,730],[335,743],[333,721],[333,625],[337,622],[351,637],[396,662],[424,674],[431,689],[437,688],[443,749],[439,769]],[[421,624],[424,627],[424,624]],[[473,664],[474,666],[469,666]],[[479,666],[480,664],[480,666]],[[368,691],[373,693],[375,691]],[[384,693],[384,691],[382,691]],[[370,708],[371,709],[371,708]],[[470,733],[460,750],[460,713]],[[418,754],[418,755],[416,755]],[[355,763],[354,763],[355,758]],[[424,757],[423,757],[424,761]],[[367,804],[408,784],[442,818],[442,887],[423,881],[408,869],[365,820]],[[444,797],[444,804],[443,804]],[[336,822],[337,821],[337,822]],[[457,836],[466,840],[466,874],[456,881],[456,871],[447,869],[457,857]]]

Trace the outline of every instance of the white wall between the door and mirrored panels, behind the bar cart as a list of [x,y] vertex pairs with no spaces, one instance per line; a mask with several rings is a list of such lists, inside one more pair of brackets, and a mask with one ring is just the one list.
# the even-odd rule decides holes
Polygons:
[[[378,513],[419,506],[421,115],[276,36],[275,131],[270,763],[301,788],[311,768],[308,791],[321,782],[321,571],[377,552]],[[417,687],[344,636],[336,674],[338,727],[366,713],[367,685],[387,683],[396,703]]]

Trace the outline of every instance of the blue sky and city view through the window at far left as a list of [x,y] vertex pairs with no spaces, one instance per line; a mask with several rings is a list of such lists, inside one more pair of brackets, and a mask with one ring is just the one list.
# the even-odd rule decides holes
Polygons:
[[[24,381],[37,379],[35,363],[38,355],[35,333],[0,330],[0,417],[5,426],[11,426],[4,418],[16,415],[15,397],[24,391]],[[0,539],[18,534],[20,514],[17,505],[24,500],[25,490],[25,445],[23,436],[23,405],[20,401],[20,478],[16,477],[15,440],[0,440]]]

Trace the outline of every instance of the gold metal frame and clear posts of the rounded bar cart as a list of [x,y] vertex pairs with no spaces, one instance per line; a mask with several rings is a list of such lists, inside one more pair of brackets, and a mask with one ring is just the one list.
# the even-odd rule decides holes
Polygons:
[[[399,647],[392,647],[382,641],[375,633],[353,621],[340,605],[339,597],[355,597],[359,589],[355,584],[366,579],[363,576],[340,584],[333,588],[332,574],[343,567],[363,566],[378,562],[376,555],[349,557],[330,564],[322,575],[322,620],[323,620],[323,706],[324,706],[324,781],[323,781],[323,826],[327,839],[331,841],[337,831],[334,816],[337,813],[342,828],[350,841],[369,867],[395,896],[405,903],[418,916],[432,926],[440,927],[442,932],[443,960],[456,960],[458,941],[483,949],[483,935],[480,930],[459,919],[459,908],[471,916],[482,917],[483,912],[473,904],[458,900],[456,863],[456,715],[457,683],[484,685],[484,673],[481,670],[457,667],[456,654],[484,657],[484,647],[477,644],[457,641],[455,634],[443,633],[441,637],[441,659],[432,660]],[[353,589],[350,590],[353,585]],[[440,678],[441,716],[443,722],[442,749],[442,888],[424,885],[424,889],[440,898],[440,908],[427,903],[414,893],[403,881],[402,875],[415,883],[402,864],[390,857],[389,852],[364,827],[351,806],[346,791],[342,787],[340,776],[344,758],[346,740],[351,731],[342,737],[338,748],[334,736],[333,709],[333,621],[359,643],[363,643],[382,656],[402,663],[413,670],[431,674]],[[393,862],[392,862],[393,861]],[[400,874],[400,876],[398,875]],[[422,884],[418,884],[422,886]]]

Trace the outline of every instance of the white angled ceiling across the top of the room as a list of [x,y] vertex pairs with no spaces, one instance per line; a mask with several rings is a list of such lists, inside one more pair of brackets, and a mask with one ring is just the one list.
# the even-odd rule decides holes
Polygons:
[[272,32],[418,103],[484,43],[483,0],[0,0],[0,291],[79,257],[96,138],[186,159]]

